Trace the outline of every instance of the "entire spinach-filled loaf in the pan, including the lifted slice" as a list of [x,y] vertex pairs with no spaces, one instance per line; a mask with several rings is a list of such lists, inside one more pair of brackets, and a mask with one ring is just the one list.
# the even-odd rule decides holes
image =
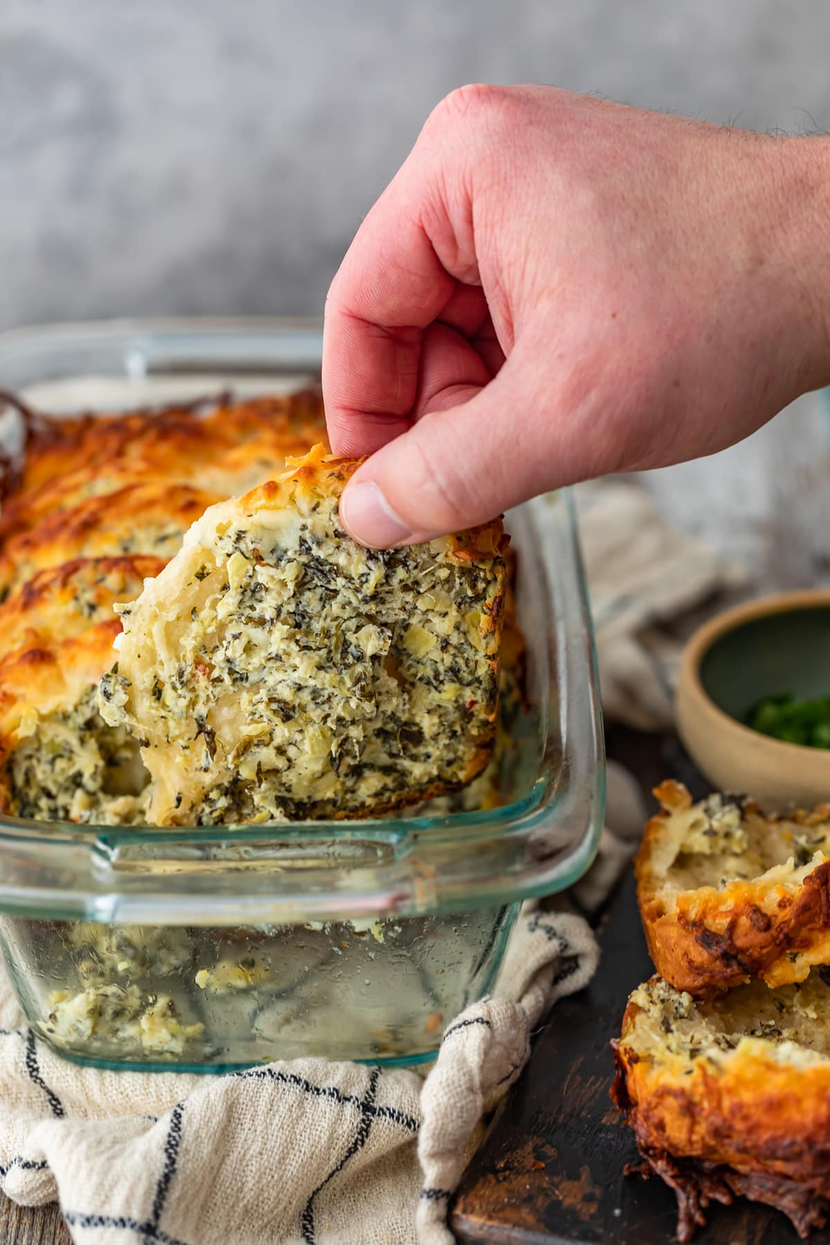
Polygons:
[[500,522],[356,545],[337,499],[357,464],[291,457],[325,433],[319,392],[21,412],[0,514],[0,808],[138,825],[497,802],[524,654]]

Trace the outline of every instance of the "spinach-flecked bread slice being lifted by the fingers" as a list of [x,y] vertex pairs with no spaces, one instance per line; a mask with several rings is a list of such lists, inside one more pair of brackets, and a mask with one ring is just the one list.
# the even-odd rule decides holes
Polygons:
[[212,507],[123,611],[101,712],[143,741],[153,823],[376,815],[487,766],[501,523],[363,549],[337,519],[358,466],[317,446]]

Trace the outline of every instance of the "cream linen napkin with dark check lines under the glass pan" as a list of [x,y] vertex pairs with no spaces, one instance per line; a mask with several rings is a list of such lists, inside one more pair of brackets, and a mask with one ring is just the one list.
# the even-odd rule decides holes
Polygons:
[[[679,650],[668,622],[724,575],[635,484],[581,494],[606,712],[663,726]],[[643,815],[610,767],[597,863],[571,893],[582,911],[626,868]],[[449,1199],[530,1033],[596,969],[589,923],[557,908],[523,908],[493,996],[448,1025],[426,1079],[324,1059],[221,1077],[83,1068],[35,1037],[0,974],[4,1191],[58,1199],[82,1245],[447,1245]]]

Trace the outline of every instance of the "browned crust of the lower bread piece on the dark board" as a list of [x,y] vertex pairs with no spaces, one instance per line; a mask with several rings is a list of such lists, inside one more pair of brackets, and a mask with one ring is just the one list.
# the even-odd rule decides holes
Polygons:
[[[677,1193],[678,1236],[689,1240],[711,1200],[740,1194],[790,1215],[804,1235],[830,1199],[830,1058],[789,1055],[765,1038],[688,1055],[643,1040],[643,991],[632,995],[612,1043],[612,1098],[652,1172]],[[732,996],[728,996],[730,998]],[[664,1026],[666,1027],[666,1026]],[[667,1030],[668,1032],[668,1030]]]

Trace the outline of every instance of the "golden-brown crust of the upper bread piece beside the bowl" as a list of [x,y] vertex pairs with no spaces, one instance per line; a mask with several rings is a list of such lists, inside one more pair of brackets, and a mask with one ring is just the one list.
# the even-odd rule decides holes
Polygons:
[[740,819],[749,837],[780,835],[793,867],[773,867],[748,879],[693,889],[667,886],[664,853],[672,819],[692,809],[676,782],[655,789],[662,810],[646,825],[635,870],[637,899],[657,972],[678,990],[706,997],[752,977],[769,986],[803,981],[811,965],[830,962],[830,859],[823,848],[798,865],[799,839],[823,842],[830,809],[764,817],[744,801]]

